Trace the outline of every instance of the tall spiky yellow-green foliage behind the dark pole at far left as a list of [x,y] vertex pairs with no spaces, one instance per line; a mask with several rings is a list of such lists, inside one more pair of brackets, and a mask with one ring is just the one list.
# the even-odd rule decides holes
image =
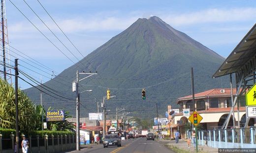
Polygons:
[[[18,90],[19,127],[29,132],[38,123],[35,105],[20,89]],[[15,128],[15,90],[0,78],[0,128]]]

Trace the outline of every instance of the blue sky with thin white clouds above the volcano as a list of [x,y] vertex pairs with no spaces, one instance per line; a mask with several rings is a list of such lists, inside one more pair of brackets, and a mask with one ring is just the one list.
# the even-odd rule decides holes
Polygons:
[[[22,12],[49,37],[62,51],[76,59],[58,42],[36,18],[23,0],[12,0]],[[81,59],[40,7],[37,0],[26,0],[43,21]],[[220,55],[227,57],[256,21],[255,0],[39,0],[59,26],[86,56],[125,30],[138,18],[158,16],[170,26],[185,32]],[[6,0],[9,43],[35,60],[62,72],[73,65],[60,51],[53,47],[24,16]],[[10,52],[12,55],[14,53]],[[23,59],[22,57],[19,57]],[[14,57],[11,56],[14,60]],[[20,61],[32,70],[32,66]],[[41,75],[21,68],[30,75]],[[37,70],[36,70],[37,71]],[[49,74],[37,71],[47,77]],[[50,74],[51,72],[48,71]],[[42,77],[43,82],[49,80]],[[71,85],[71,84],[70,84]],[[30,87],[21,82],[22,89]]]

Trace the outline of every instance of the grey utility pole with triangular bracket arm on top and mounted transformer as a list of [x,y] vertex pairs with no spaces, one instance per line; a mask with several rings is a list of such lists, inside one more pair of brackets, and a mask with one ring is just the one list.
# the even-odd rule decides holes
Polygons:
[[[81,75],[89,75],[87,77],[84,77],[82,79],[79,80],[79,74]],[[72,91],[76,91],[76,150],[80,151],[80,94],[79,94],[79,81],[91,77],[93,75],[96,75],[97,73],[79,73],[78,71],[76,71],[76,82],[75,82],[75,90]]]

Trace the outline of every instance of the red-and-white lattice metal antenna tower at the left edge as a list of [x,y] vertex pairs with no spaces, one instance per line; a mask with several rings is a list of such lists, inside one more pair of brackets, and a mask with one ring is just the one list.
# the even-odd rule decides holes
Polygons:
[[0,20],[0,43],[1,43],[1,56],[0,56],[0,70],[3,73],[0,73],[0,77],[3,77],[4,80],[12,82],[11,80],[11,68],[10,65],[10,54],[9,54],[9,41],[8,41],[8,31],[7,31],[7,18],[6,18],[6,9],[5,9],[5,0],[1,0],[1,20]]

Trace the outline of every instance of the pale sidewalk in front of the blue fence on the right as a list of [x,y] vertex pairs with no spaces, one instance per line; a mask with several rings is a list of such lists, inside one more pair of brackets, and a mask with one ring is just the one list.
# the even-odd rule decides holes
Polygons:
[[[189,153],[195,153],[194,145],[191,144],[191,148],[189,148],[188,144],[187,144],[187,141],[184,141],[184,140],[179,140],[179,143],[177,143],[177,144],[175,143],[175,140],[159,140],[159,142],[166,145],[166,146],[169,146],[169,147],[177,147],[179,149],[186,150]],[[198,152],[199,151],[201,153],[218,153],[217,148],[198,145]]]

